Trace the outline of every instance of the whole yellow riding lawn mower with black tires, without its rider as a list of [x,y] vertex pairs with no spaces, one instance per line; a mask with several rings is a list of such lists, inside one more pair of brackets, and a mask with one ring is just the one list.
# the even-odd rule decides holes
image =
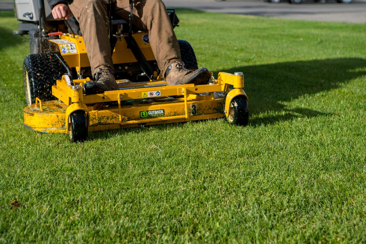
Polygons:
[[[76,20],[54,20],[44,0],[15,0],[15,9],[21,23],[14,34],[28,34],[31,51],[23,64],[24,126],[28,129],[66,133],[72,142],[78,142],[86,140],[89,131],[104,129],[219,117],[235,125],[248,123],[242,72],[220,72],[205,85],[167,86],[146,31],[131,24],[132,14],[129,21],[110,18],[119,89],[86,95],[83,84],[93,78]],[[178,26],[175,10],[167,11],[172,26]],[[191,45],[179,40],[179,46],[186,68],[198,69]]]

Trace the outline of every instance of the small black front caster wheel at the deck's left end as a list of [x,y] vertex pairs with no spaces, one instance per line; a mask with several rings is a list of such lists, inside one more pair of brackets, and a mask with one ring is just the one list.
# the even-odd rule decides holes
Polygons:
[[76,110],[71,113],[68,123],[71,142],[83,142],[88,138],[88,123],[85,111]]

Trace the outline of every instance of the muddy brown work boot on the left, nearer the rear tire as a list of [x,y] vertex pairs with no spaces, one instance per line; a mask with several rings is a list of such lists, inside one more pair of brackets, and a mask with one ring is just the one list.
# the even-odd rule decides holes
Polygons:
[[106,67],[98,68],[95,81],[88,81],[83,85],[86,95],[118,90],[118,85],[112,70]]

